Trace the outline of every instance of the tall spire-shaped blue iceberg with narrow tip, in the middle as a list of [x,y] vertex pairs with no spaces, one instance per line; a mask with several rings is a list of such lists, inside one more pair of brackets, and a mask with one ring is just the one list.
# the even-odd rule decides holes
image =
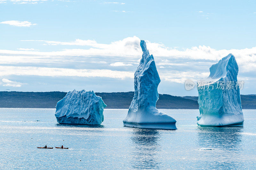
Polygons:
[[145,41],[140,40],[140,46],[143,54],[134,74],[134,96],[127,117],[123,121],[124,126],[177,129],[175,119],[156,109],[160,77],[156,70],[154,57],[149,55]]

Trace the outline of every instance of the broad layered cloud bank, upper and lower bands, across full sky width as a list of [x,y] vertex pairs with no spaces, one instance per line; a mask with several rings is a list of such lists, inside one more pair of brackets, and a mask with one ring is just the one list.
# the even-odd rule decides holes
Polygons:
[[[113,66],[137,66],[142,54],[140,39],[136,36],[109,44],[82,39],[71,42],[37,41],[51,46],[68,46],[71,49],[52,52],[0,50],[0,66],[9,65],[8,67],[1,66],[0,75],[132,78],[134,67]],[[238,75],[241,80],[256,77],[256,47],[216,50],[209,46],[194,46],[178,50],[166,47],[162,43],[149,41],[146,43],[149,53],[154,55],[156,65],[161,68],[158,72],[163,81],[182,83],[187,79],[198,80],[207,77],[209,67],[229,53],[236,57],[239,66]],[[24,65],[36,67],[28,68]],[[17,68],[17,66],[19,67]],[[60,68],[55,68],[56,66]],[[69,70],[68,67],[72,67],[72,69]],[[112,70],[113,68],[120,71]],[[125,69],[125,72],[121,69]]]

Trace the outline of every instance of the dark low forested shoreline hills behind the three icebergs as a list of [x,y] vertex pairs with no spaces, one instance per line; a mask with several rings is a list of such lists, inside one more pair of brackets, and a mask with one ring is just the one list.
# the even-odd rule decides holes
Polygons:
[[[0,108],[54,109],[66,92],[17,92],[0,91]],[[95,93],[101,96],[105,109],[128,109],[134,92]],[[157,109],[198,109],[197,96],[172,96],[159,94]],[[241,95],[243,109],[256,109],[256,95]]]

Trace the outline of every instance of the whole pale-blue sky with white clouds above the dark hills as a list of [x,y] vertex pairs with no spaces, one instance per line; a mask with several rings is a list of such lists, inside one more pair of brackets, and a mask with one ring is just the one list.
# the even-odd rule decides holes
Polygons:
[[0,0],[0,91],[133,91],[140,39],[161,94],[197,96],[185,81],[229,53],[256,94],[254,0]]

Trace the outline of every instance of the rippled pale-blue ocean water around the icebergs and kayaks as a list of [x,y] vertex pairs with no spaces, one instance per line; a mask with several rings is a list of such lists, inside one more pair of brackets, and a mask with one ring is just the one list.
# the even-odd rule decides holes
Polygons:
[[[123,126],[128,110],[104,110],[100,126],[58,124],[54,109],[0,109],[0,169],[256,169],[256,110],[244,127],[196,125],[199,110],[160,110],[178,130]],[[37,146],[69,149],[38,149]]]

